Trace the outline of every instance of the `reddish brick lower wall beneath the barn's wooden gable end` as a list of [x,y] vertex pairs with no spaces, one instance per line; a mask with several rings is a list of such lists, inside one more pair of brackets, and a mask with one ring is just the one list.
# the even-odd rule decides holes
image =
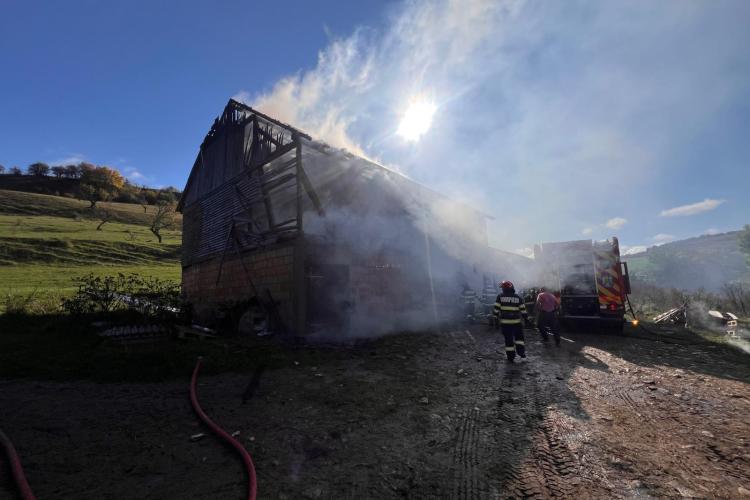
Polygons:
[[242,261],[236,254],[227,254],[219,273],[221,255],[182,268],[182,293],[193,306],[198,320],[208,321],[222,304],[248,300],[253,297],[253,288],[248,273],[259,294],[271,292],[280,302],[279,312],[288,327],[295,327],[294,297],[295,245],[282,244],[262,250],[245,252]]

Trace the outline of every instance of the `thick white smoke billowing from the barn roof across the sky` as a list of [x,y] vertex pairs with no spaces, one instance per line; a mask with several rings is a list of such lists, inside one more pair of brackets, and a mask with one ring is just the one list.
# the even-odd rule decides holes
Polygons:
[[[413,0],[384,28],[334,37],[259,109],[492,214],[491,243],[657,228],[679,152],[748,86],[746,2]],[[744,34],[743,34],[744,33]],[[406,104],[438,105],[416,144]],[[706,196],[712,193],[707,192]],[[633,201],[637,200],[637,203]],[[661,218],[661,221],[664,219]],[[653,227],[653,229],[649,229]],[[640,237],[640,236],[639,236]],[[642,238],[642,237],[641,237]]]

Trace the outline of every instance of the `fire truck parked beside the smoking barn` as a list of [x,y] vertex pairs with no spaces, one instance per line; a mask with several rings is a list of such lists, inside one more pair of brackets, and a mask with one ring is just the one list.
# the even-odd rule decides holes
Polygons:
[[630,277],[616,237],[535,245],[534,261],[540,284],[559,292],[563,324],[587,321],[622,329]]

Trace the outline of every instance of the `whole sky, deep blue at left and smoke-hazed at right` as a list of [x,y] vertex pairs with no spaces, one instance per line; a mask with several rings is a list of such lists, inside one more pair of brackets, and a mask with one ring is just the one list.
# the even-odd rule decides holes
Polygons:
[[[181,187],[234,96],[494,214],[501,248],[750,223],[750,2],[0,8],[7,167],[85,159]],[[436,112],[411,142],[414,99]]]

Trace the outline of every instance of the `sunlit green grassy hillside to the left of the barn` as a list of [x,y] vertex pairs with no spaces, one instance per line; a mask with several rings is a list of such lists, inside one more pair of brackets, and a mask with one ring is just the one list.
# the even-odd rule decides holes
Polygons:
[[100,203],[111,222],[100,220],[87,202],[0,190],[0,297],[8,293],[66,292],[71,278],[93,272],[139,273],[179,280],[181,220],[163,232],[163,243],[147,227],[148,207]]

